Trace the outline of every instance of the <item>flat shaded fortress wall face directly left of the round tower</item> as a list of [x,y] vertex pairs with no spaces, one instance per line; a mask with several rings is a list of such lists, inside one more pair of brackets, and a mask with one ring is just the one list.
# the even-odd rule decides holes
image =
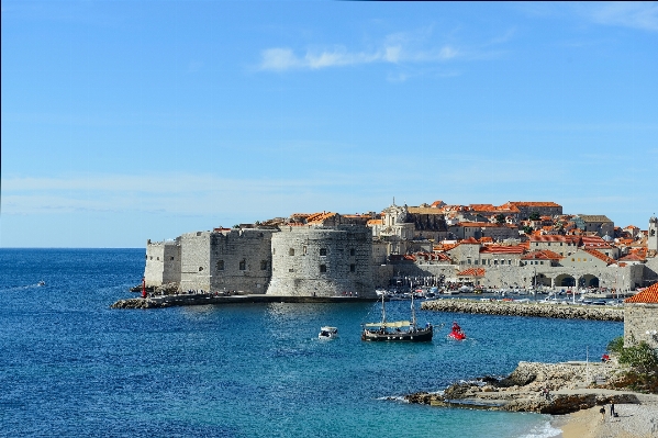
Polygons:
[[232,229],[210,239],[212,291],[265,293],[271,277],[274,229]]

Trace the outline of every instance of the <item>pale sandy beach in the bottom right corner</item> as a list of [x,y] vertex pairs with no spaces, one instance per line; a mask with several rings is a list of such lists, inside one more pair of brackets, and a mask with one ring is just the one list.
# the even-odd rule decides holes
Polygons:
[[658,438],[658,404],[617,404],[615,418],[605,405],[605,419],[600,408],[556,417],[553,426],[562,430],[564,438]]

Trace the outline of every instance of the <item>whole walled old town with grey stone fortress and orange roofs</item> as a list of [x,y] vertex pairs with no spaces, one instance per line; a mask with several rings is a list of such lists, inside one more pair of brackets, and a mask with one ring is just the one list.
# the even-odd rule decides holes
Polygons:
[[604,288],[658,281],[658,220],[647,231],[553,202],[395,205],[292,214],[147,242],[148,287],[239,294],[376,296],[376,288]]

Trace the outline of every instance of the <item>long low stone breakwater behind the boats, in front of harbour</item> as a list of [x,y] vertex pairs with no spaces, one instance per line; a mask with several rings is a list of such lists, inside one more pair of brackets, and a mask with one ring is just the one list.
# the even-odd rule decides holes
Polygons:
[[483,315],[540,316],[566,319],[624,321],[623,307],[566,304],[515,303],[505,301],[433,300],[421,304],[425,311],[479,313]]

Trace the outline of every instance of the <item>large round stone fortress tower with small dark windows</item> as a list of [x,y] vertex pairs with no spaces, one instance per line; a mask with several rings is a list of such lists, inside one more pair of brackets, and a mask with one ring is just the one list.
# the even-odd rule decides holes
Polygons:
[[272,236],[271,249],[269,295],[376,296],[366,226],[287,226]]

